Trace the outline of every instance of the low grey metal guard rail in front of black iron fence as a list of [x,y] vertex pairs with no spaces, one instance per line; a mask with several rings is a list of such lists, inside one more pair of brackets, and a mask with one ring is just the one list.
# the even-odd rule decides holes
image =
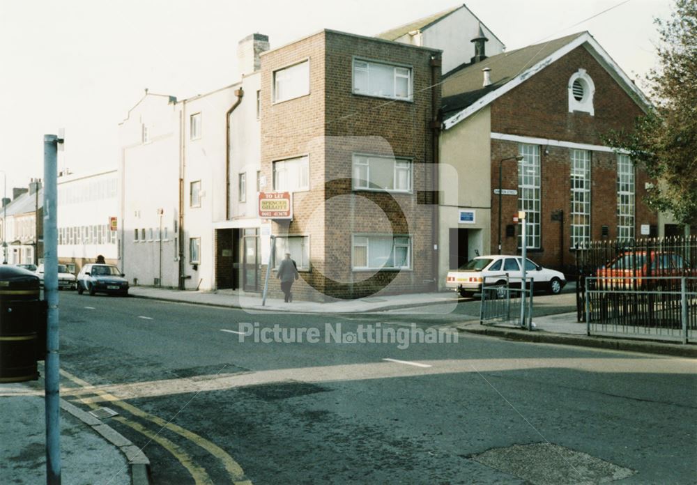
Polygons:
[[583,300],[588,335],[697,337],[697,277],[586,277]]

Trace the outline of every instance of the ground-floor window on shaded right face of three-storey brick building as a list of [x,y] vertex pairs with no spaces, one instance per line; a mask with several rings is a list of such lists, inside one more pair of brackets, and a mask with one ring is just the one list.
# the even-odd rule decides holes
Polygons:
[[354,270],[411,268],[410,236],[353,236]]

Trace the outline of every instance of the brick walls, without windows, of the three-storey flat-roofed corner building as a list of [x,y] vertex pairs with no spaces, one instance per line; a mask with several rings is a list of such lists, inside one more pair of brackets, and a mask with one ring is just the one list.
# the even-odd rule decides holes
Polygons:
[[[309,191],[294,194],[293,222],[272,228],[277,235],[309,236],[312,270],[301,273],[302,282],[294,286],[296,298],[357,298],[388,283],[388,291],[422,291],[428,286],[433,215],[431,206],[417,203],[417,194],[430,183],[424,177],[424,164],[431,162],[433,53],[323,31],[261,57],[261,167],[268,180],[266,190],[272,188],[274,160],[309,155]],[[354,56],[412,66],[414,101],[354,95]],[[309,95],[272,104],[273,71],[302,59],[310,62]],[[353,192],[356,152],[411,158],[414,193]],[[393,232],[413,236],[411,270],[377,274],[351,270],[353,233]],[[278,286],[272,285],[274,293]]]

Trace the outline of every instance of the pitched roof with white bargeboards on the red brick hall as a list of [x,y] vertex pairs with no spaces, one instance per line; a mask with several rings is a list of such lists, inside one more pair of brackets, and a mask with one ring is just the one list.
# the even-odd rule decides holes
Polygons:
[[[497,54],[449,72],[443,79],[445,129],[451,128],[581,45],[588,48],[588,52],[644,111],[650,109],[651,104],[643,93],[590,33],[579,32],[546,43]],[[489,86],[482,86],[484,68],[491,68]]]

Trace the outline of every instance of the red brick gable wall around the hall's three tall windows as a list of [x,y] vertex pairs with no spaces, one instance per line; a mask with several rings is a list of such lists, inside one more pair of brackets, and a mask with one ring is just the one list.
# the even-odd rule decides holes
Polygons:
[[[583,68],[595,84],[595,116],[569,113],[567,84],[574,72]],[[642,111],[629,95],[583,48],[574,49],[523,84],[516,86],[491,105],[491,131],[525,137],[603,146],[602,135],[608,130],[631,129]],[[570,270],[575,256],[571,249],[571,149],[558,146],[539,147],[541,165],[540,249],[530,252],[530,258],[552,268]],[[498,187],[498,163],[518,155],[518,143],[491,141],[491,187]],[[591,153],[591,239],[602,239],[602,226],[608,226],[608,236],[617,237],[617,160],[606,151]],[[503,162],[505,189],[518,187],[515,160]],[[650,181],[641,169],[636,169],[635,236],[640,236],[641,224],[657,224],[657,215],[643,203],[645,183]],[[492,191],[493,193],[493,191]],[[518,210],[518,197],[502,197],[502,252],[516,254],[516,237],[506,237],[507,224]],[[491,252],[498,244],[498,196],[492,195]],[[564,211],[562,224],[551,219],[555,210]]]

